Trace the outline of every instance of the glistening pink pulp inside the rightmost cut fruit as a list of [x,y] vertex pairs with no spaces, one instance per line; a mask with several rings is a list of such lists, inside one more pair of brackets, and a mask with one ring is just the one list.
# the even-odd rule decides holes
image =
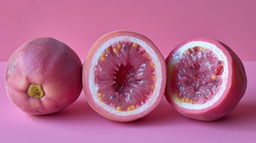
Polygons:
[[194,46],[172,64],[171,88],[174,97],[188,104],[204,104],[220,90],[223,61],[207,48]]

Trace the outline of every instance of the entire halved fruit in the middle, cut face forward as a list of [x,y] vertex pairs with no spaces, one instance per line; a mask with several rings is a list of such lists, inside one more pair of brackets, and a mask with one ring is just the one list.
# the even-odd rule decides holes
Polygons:
[[162,100],[166,64],[148,38],[119,30],[94,43],[84,62],[87,101],[110,120],[129,122],[149,114]]

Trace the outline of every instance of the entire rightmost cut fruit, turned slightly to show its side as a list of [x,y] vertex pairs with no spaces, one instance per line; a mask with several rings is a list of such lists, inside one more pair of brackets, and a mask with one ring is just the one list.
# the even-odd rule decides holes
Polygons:
[[242,61],[227,45],[196,37],[180,43],[166,58],[165,97],[184,116],[204,121],[230,113],[245,94]]

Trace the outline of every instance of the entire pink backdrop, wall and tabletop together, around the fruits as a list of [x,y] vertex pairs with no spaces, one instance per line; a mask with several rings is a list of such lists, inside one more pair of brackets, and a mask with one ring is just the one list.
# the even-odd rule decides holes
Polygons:
[[[0,142],[256,142],[256,1],[0,1]],[[165,98],[146,117],[112,122],[85,95],[59,113],[32,116],[5,92],[6,61],[24,42],[50,36],[84,61],[100,36],[131,30],[151,39],[166,58],[193,36],[218,39],[245,64],[248,88],[235,110],[216,122],[188,119]]]

